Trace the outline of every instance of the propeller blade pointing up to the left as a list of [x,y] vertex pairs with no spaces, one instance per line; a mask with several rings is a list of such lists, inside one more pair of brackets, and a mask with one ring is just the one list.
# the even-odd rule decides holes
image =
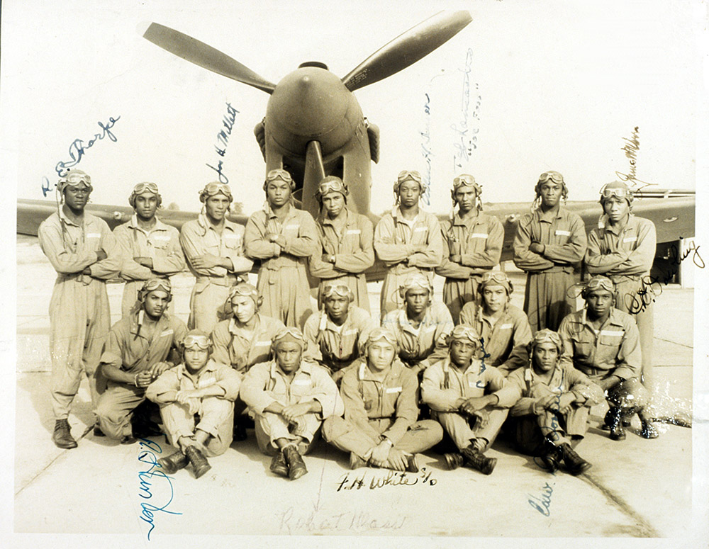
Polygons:
[[268,94],[272,94],[276,87],[272,82],[260,77],[248,67],[219,50],[177,30],[162,26],[160,23],[151,23],[143,34],[143,38],[162,47],[163,50],[177,55],[177,57],[182,57],[184,60],[242,82],[242,84],[254,86]]

